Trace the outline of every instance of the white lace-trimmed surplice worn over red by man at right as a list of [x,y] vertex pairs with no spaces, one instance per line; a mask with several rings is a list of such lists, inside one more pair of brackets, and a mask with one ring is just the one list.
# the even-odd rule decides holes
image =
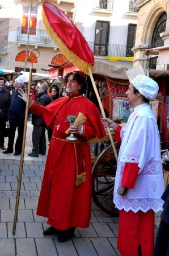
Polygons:
[[[157,122],[148,104],[134,109],[128,123],[121,129],[122,143],[117,164],[113,201],[116,207],[134,213],[153,209],[163,210],[164,180],[160,156],[160,141]],[[117,193],[121,184],[125,163],[138,163],[140,172],[133,189],[128,189],[125,197]]]

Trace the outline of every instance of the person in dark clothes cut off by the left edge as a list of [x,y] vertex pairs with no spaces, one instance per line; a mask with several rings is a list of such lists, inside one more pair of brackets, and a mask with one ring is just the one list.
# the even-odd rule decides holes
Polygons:
[[4,146],[4,133],[7,121],[7,110],[10,105],[11,94],[5,88],[5,78],[0,77],[0,148],[5,150]]

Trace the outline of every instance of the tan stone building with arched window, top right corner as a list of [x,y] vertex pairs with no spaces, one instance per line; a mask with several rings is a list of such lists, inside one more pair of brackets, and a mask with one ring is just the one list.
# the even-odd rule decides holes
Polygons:
[[157,55],[146,55],[147,48],[169,46],[169,1],[138,0],[136,42],[133,47],[133,66],[152,69],[169,69],[168,65],[157,66]]

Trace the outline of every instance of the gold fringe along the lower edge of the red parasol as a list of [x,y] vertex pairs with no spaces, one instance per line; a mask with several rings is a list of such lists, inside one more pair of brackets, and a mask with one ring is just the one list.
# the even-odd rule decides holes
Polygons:
[[[53,42],[57,45],[57,47],[60,49],[60,51],[69,59],[75,67],[79,68],[82,72],[86,73],[89,75],[88,72],[88,63],[83,61],[81,58],[79,58],[75,53],[73,53],[64,42],[56,35],[56,32],[54,32],[53,28],[50,26],[48,19],[45,15],[44,10],[42,11],[42,18],[43,18],[43,23],[45,25],[45,28],[50,36],[52,38]],[[93,65],[90,65],[91,71],[93,69]]]

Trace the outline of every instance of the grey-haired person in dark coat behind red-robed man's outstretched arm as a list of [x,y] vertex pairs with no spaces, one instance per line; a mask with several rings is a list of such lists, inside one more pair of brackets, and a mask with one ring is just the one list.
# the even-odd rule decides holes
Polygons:
[[[39,86],[38,90],[38,98],[37,103],[41,106],[47,106],[51,101],[48,96],[48,87],[47,84],[43,83]],[[32,152],[29,153],[29,156],[38,157],[39,154],[45,155],[47,146],[46,146],[46,137],[45,137],[45,128],[46,123],[41,119],[41,117],[37,117],[37,115],[32,114]]]

